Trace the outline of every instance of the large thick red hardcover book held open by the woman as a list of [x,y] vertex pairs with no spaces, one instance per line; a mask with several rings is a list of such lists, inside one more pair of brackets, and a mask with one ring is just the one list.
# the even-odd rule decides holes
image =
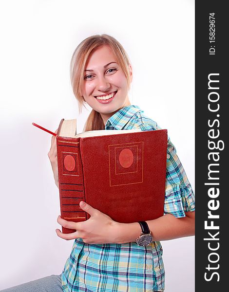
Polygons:
[[62,119],[56,136],[61,218],[89,219],[80,201],[120,223],[163,216],[167,130],[75,134],[76,120]]

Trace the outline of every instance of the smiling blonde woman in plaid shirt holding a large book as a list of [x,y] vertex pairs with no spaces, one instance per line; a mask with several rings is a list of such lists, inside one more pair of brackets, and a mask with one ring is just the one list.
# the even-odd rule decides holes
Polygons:
[[[86,38],[78,45],[71,61],[71,81],[79,109],[84,103],[93,109],[85,124],[85,131],[159,129],[139,107],[130,104],[128,91],[132,77],[128,56],[115,38],[96,35]],[[54,136],[48,156],[58,186]],[[83,201],[80,202],[80,207],[91,215],[90,219],[78,223],[68,222],[60,217],[57,219],[60,225],[76,229],[72,234],[62,234],[60,230],[56,230],[57,235],[63,239],[75,239],[71,255],[60,275],[63,291],[164,291],[165,271],[159,241],[194,235],[195,213],[191,185],[170,139],[167,150],[165,215],[146,222],[146,227],[149,227],[153,236],[148,244],[139,245],[136,242],[142,230],[138,222],[115,222]],[[47,283],[53,281],[52,285],[48,285],[54,289],[44,291],[61,291],[60,276],[43,278]],[[47,287],[42,281],[44,280],[37,280],[37,286]],[[25,288],[23,291],[26,291]],[[38,291],[42,291],[41,288]]]

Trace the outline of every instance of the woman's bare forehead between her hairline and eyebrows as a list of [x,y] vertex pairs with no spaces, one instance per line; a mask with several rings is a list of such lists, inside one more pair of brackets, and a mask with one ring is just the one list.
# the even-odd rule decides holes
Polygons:
[[95,49],[95,51],[89,56],[86,63],[86,69],[103,67],[110,62],[116,62],[115,55],[109,46],[104,45]]

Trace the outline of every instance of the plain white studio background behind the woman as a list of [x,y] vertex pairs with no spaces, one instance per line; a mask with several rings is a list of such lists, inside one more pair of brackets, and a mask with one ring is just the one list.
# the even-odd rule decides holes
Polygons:
[[[57,237],[59,194],[47,153],[77,118],[69,64],[107,33],[130,56],[132,104],[167,128],[194,188],[194,0],[0,1],[0,289],[60,274],[73,241]],[[166,292],[194,291],[194,237],[162,242]]]

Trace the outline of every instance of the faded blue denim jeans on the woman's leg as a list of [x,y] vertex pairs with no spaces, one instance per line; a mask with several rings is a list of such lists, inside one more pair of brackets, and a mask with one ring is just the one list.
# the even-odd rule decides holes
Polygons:
[[61,275],[51,275],[1,290],[1,292],[63,292]]

